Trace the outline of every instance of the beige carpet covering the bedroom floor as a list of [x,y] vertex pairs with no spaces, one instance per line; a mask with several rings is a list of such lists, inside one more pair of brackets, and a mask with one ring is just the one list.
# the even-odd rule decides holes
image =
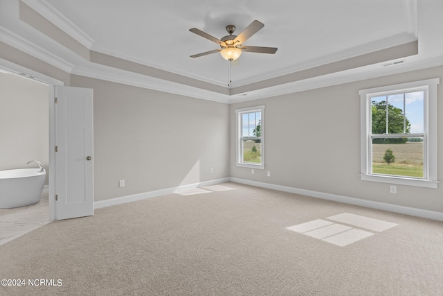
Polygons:
[[[222,185],[235,190],[98,209],[0,245],[1,279],[26,282],[0,295],[443,295],[441,222]],[[315,220],[371,235],[334,245]]]

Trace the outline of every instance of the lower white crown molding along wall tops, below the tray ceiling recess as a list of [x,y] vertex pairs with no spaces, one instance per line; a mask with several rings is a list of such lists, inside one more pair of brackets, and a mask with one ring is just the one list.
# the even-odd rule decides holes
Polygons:
[[[234,95],[219,94],[197,87],[190,87],[182,85],[177,82],[170,82],[152,76],[145,76],[142,74],[129,72],[113,67],[107,67],[100,64],[89,64],[90,67],[74,67],[73,64],[66,62],[56,55],[49,53],[41,47],[28,42],[19,35],[12,33],[6,28],[0,26],[1,41],[9,44],[25,53],[39,58],[48,64],[60,68],[67,73],[79,75],[89,78],[96,78],[100,80],[107,80],[125,85],[132,85],[135,87],[143,87],[146,89],[153,89],[159,92],[167,92],[171,94],[178,94],[181,96],[189,96],[192,98],[200,98],[208,101],[215,101],[218,103],[240,103],[244,101],[253,101],[260,98],[269,98],[274,96],[281,96],[284,94],[291,94],[295,92],[302,92],[309,89],[316,89],[319,87],[328,87],[332,85],[340,85],[347,82],[354,82],[358,80],[365,80],[369,78],[377,78],[381,76],[388,76],[395,73],[403,73],[407,71],[414,71],[428,67],[435,67],[443,64],[443,57],[438,56],[427,60],[406,62],[399,66],[382,67],[381,64],[373,64],[365,67],[363,73],[359,73],[361,68],[350,69],[338,73],[331,73],[325,76],[309,78],[296,82],[289,82],[282,85],[275,85],[263,89],[255,89],[250,92],[244,92]],[[413,59],[410,59],[413,60]]]

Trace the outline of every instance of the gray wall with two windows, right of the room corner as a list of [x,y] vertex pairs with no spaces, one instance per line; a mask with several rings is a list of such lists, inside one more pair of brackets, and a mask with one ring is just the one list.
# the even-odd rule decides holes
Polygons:
[[[397,194],[392,194],[390,184],[361,181],[359,176],[359,89],[428,78],[442,80],[438,114],[443,114],[443,67],[230,105],[230,176],[443,212],[442,184],[439,189],[397,185]],[[266,164],[252,175],[250,168],[235,166],[235,109],[255,105],[266,106]],[[438,145],[442,180],[443,129],[438,130]]]

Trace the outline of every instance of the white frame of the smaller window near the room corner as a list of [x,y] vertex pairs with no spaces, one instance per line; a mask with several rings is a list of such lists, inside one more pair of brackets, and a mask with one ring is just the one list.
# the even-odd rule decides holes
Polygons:
[[[260,164],[254,164],[251,162],[243,162],[242,155],[242,115],[246,113],[260,112],[260,143],[261,143],[261,154],[262,154],[262,162]],[[246,107],[235,110],[235,126],[236,126],[236,137],[235,137],[235,146],[236,146],[236,157],[235,157],[235,165],[244,167],[244,168],[258,168],[264,169],[264,105],[255,106],[255,107]]]

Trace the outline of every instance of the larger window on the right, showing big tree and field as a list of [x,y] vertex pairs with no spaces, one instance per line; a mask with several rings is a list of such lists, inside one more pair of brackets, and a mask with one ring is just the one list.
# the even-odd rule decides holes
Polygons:
[[439,78],[363,89],[361,180],[437,188]]

